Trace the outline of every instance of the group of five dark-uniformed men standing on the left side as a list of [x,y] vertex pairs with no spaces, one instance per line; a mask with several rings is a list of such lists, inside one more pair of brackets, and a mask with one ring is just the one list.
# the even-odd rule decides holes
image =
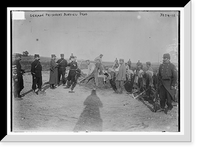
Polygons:
[[[56,56],[54,54],[51,55],[50,61],[50,77],[49,77],[49,84],[50,88],[56,88],[60,82],[63,85],[66,84],[65,88],[70,88],[70,93],[74,93],[74,88],[77,84],[77,79],[81,75],[81,70],[78,68],[76,57],[71,54],[69,58],[69,63],[67,60],[64,59],[64,54],[60,55],[61,58],[56,61]],[[15,60],[12,65],[12,73],[13,73],[13,81],[14,81],[14,97],[15,98],[22,98],[23,96],[20,94],[22,89],[24,88],[23,82],[23,73],[25,71],[21,69],[21,54],[15,55]],[[67,76],[67,80],[65,78],[66,67],[69,66],[69,74]],[[38,94],[39,91],[42,90],[42,65],[40,63],[40,56],[39,54],[34,55],[34,61],[31,63],[31,75],[32,75],[32,90]]]

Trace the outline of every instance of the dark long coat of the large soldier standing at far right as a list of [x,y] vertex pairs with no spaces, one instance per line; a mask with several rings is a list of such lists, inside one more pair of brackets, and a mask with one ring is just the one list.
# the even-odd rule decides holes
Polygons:
[[158,88],[163,85],[174,100],[175,90],[172,90],[171,86],[175,86],[176,84],[177,70],[175,65],[171,62],[161,64],[158,72]]

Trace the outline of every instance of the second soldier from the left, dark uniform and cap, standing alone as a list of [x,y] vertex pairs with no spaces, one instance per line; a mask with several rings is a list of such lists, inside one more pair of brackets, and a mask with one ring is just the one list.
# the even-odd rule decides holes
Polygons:
[[42,65],[39,61],[39,54],[35,54],[34,58],[35,60],[31,63],[31,74],[33,78],[32,89],[38,94],[38,91],[41,91],[42,89]]

